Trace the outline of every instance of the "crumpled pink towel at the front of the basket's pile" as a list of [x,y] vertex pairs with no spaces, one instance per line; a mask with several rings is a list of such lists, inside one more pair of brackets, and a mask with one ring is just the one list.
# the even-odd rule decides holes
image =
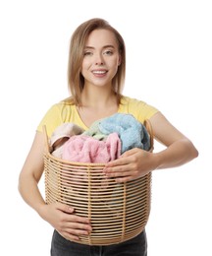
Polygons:
[[63,160],[79,162],[108,162],[121,154],[121,141],[117,133],[111,133],[104,141],[87,135],[72,136],[63,147]]

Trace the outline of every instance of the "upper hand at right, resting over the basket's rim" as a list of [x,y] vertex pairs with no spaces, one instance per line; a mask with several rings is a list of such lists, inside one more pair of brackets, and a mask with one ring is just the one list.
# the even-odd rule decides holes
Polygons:
[[155,154],[134,148],[125,152],[118,160],[109,161],[103,172],[107,177],[114,177],[116,182],[126,182],[155,169],[155,160]]

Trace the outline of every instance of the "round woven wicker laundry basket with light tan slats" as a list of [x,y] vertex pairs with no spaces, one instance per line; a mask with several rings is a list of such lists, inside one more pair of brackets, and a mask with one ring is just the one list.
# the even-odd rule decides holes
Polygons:
[[[145,121],[153,149],[151,125]],[[79,243],[109,245],[131,239],[145,227],[150,213],[151,173],[125,183],[103,175],[104,164],[81,163],[53,157],[44,127],[46,203],[61,202],[91,221],[92,232]]]

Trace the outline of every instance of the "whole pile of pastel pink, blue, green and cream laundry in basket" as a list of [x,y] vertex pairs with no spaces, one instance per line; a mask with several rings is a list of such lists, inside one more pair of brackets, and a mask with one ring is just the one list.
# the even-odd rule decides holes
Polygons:
[[107,162],[126,151],[150,149],[150,138],[144,125],[132,114],[116,113],[99,119],[84,131],[74,123],[56,128],[50,138],[51,153],[63,160]]

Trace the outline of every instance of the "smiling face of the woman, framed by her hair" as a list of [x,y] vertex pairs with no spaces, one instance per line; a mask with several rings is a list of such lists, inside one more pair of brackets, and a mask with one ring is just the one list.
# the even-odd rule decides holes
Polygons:
[[84,86],[110,87],[120,64],[114,33],[107,30],[91,32],[85,42],[81,67]]

